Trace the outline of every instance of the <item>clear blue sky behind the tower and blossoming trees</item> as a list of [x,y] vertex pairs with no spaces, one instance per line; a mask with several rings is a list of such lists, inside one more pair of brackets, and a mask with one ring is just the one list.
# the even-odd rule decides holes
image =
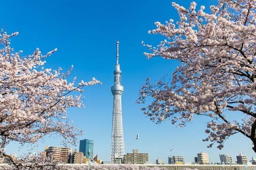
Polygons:
[[[176,3],[188,7],[190,1],[176,0]],[[197,0],[197,7],[216,4],[216,0]],[[251,159],[255,156],[251,142],[242,135],[231,137],[222,150],[216,146],[208,149],[208,143],[202,142],[207,134],[204,118],[195,117],[193,123],[177,128],[168,120],[156,125],[145,118],[140,107],[135,104],[138,91],[147,77],[157,80],[160,76],[171,74],[178,66],[173,60],[154,58],[147,60],[143,52],[147,49],[141,41],[157,44],[161,37],[148,35],[154,29],[155,21],[177,20],[177,12],[169,0],[8,0],[2,1],[0,26],[6,26],[9,33],[18,31],[12,38],[12,47],[31,54],[39,47],[42,53],[58,48],[47,59],[46,67],[62,67],[67,71],[71,64],[74,69],[69,79],[91,80],[95,77],[103,84],[85,88],[84,104],[86,109],[71,108],[68,118],[83,130],[80,139],[94,140],[94,153],[98,158],[110,159],[112,103],[110,87],[113,85],[116,41],[120,41],[120,66],[123,71],[123,127],[125,153],[138,148],[148,153],[150,161],[164,159],[169,155],[183,155],[185,161],[193,161],[199,152],[207,152],[210,161],[219,161],[219,153],[236,155],[243,152]],[[45,68],[46,68],[45,67]],[[135,141],[136,134],[140,140]],[[45,145],[59,146],[62,138],[52,136],[39,142],[33,151],[43,151]],[[74,150],[79,146],[71,146]],[[170,149],[173,151],[170,152]],[[25,153],[31,146],[18,151],[18,143],[7,147],[8,153]]]

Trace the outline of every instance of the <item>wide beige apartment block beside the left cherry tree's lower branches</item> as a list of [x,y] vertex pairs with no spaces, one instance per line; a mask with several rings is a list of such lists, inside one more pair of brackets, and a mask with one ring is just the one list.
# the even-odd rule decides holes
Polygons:
[[71,152],[72,149],[69,147],[45,146],[45,151],[42,154],[45,156],[52,154],[53,159],[62,163],[68,163]]

